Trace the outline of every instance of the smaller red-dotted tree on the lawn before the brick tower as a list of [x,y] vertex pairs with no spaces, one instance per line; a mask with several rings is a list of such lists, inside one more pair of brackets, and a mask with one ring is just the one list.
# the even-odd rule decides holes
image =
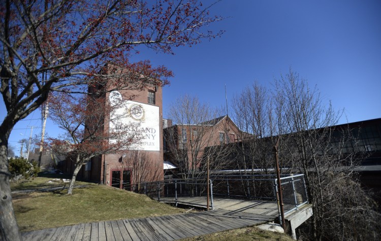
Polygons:
[[[105,98],[91,95],[75,98],[66,93],[55,94],[49,98],[49,102],[50,118],[64,134],[59,138],[49,138],[47,147],[74,162],[69,195],[73,193],[79,170],[92,157],[117,153],[140,140],[139,131],[129,131],[139,128],[131,128],[133,124],[122,124],[120,120],[125,116],[116,113],[123,103],[112,106],[105,104]],[[105,119],[118,125],[106,130],[108,126],[105,126]]]

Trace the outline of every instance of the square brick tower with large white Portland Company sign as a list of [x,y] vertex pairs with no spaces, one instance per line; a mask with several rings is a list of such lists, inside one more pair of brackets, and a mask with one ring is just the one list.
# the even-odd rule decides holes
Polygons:
[[[102,87],[96,86],[98,89]],[[105,105],[120,104],[120,107],[115,108],[115,112],[123,114],[119,122],[139,129],[141,138],[128,148],[118,150],[118,153],[92,158],[81,168],[78,178],[126,190],[137,188],[141,182],[162,180],[164,176],[161,83],[146,82],[142,87],[106,93],[103,98]],[[116,128],[116,124],[109,121],[111,117],[107,114],[105,116],[105,133]],[[131,131],[134,131],[134,128],[131,128]],[[64,172],[73,173],[74,163],[66,160],[60,162],[58,167]]]

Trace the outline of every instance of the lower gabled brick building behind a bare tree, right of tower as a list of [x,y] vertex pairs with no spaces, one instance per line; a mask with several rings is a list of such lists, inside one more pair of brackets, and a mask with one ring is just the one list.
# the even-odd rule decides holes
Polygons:
[[181,173],[182,178],[192,176],[202,170],[204,159],[208,156],[216,165],[229,153],[229,150],[221,148],[208,148],[206,152],[206,147],[236,142],[240,134],[228,115],[198,124],[167,127],[164,129],[164,160],[177,166],[176,171]]

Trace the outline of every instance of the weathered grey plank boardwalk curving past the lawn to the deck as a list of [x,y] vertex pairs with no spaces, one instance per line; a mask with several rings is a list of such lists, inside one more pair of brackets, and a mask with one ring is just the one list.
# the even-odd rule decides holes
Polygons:
[[215,199],[215,210],[23,232],[24,240],[176,240],[273,221],[274,202]]

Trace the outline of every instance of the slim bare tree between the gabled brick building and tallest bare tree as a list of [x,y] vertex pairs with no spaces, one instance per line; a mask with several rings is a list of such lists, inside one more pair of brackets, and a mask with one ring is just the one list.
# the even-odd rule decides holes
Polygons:
[[271,155],[273,136],[273,106],[269,91],[257,82],[233,99],[234,120],[242,130],[236,145],[237,167],[246,174],[251,169],[269,173],[273,168]]

